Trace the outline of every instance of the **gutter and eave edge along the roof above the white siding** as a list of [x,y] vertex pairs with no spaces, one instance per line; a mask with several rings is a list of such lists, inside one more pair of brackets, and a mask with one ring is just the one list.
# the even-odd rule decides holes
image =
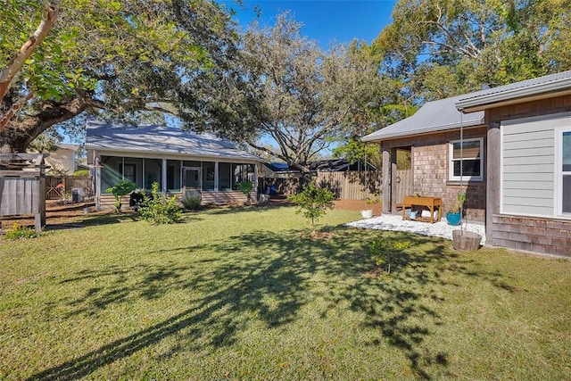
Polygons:
[[[499,105],[519,103],[525,98],[537,100],[545,97],[571,94],[571,78],[553,80],[528,87],[513,88],[489,95],[460,99],[456,103],[459,112],[478,112]],[[519,102],[517,102],[519,101]]]

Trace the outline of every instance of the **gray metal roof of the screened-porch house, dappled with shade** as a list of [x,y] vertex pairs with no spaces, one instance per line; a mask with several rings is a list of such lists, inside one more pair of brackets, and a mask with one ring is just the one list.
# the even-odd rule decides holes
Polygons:
[[180,128],[155,125],[131,127],[95,119],[87,120],[86,148],[261,162],[258,156],[246,153],[213,134],[195,135]]

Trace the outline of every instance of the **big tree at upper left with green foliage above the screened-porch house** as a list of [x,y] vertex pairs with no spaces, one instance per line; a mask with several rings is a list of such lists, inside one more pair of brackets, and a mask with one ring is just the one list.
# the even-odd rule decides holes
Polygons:
[[[33,1],[4,2],[0,56],[29,38]],[[230,16],[208,0],[61,0],[50,34],[2,99],[0,152],[24,151],[47,128],[77,127],[83,112],[135,121],[178,112],[186,82],[231,66],[237,35]],[[4,62],[6,62],[4,61]],[[206,73],[206,74],[205,74]],[[201,94],[190,94],[200,98]]]

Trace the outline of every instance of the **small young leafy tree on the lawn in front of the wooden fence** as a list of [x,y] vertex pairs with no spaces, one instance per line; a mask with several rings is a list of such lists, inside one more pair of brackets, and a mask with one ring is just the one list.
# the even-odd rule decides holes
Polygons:
[[325,215],[327,209],[334,208],[335,195],[325,188],[315,186],[315,181],[311,181],[308,186],[303,186],[302,192],[290,195],[287,199],[297,204],[295,213],[311,219],[311,228],[315,231],[319,218]]

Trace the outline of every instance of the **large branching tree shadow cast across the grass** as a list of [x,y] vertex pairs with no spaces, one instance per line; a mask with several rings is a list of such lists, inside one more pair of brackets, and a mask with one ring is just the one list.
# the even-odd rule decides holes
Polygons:
[[[186,351],[189,345],[197,351],[208,345],[232,345],[240,330],[253,319],[261,320],[268,328],[283,327],[315,298],[324,298],[327,310],[348,302],[352,311],[361,312],[362,326],[372,331],[368,344],[387,343],[400,350],[418,378],[430,378],[428,367],[445,368],[448,353],[434,352],[424,343],[433,327],[441,324],[438,311],[431,306],[444,301],[434,290],[448,285],[441,277],[443,271],[452,268],[471,275],[468,260],[451,253],[447,241],[426,236],[361,231],[356,234],[345,228],[329,229],[327,233],[327,239],[311,239],[299,231],[254,231],[205,244],[202,248],[217,253],[216,259],[189,257],[184,266],[167,262],[80,271],[62,283],[95,278],[102,279],[104,286],[87,289],[82,297],[67,301],[72,310],[68,319],[78,314],[96,314],[112,303],[157,299],[170,291],[192,290],[201,296],[188,302],[191,307],[169,319],[29,379],[86,377],[173,335],[179,340],[184,338],[188,343]],[[411,247],[416,248],[401,253],[401,270],[391,277],[366,276],[374,269],[368,238],[377,234],[409,240]],[[193,253],[196,247],[173,250]],[[327,291],[315,287],[316,275],[326,279]],[[473,275],[489,277],[493,284],[493,274]],[[136,282],[129,281],[134,277]],[[320,312],[326,319],[327,311]],[[172,348],[172,352],[177,351],[178,348]]]

